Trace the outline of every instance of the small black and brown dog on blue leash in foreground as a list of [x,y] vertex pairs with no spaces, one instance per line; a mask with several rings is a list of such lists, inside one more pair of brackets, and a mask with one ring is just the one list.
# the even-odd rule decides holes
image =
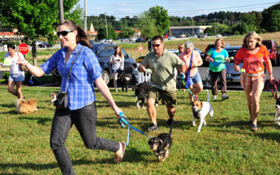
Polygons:
[[151,146],[153,153],[157,156],[158,160],[161,162],[165,161],[165,158],[169,156],[169,148],[172,146],[172,128],[174,122],[170,127],[169,134],[161,133],[158,137],[153,137],[148,141],[148,144]]

